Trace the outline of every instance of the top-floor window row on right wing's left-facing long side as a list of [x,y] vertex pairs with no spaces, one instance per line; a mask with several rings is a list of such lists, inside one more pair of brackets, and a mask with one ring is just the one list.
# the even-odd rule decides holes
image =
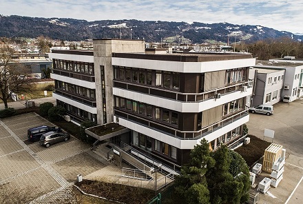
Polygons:
[[132,83],[142,83],[171,90],[179,90],[180,87],[180,74],[178,72],[114,66],[114,79]]

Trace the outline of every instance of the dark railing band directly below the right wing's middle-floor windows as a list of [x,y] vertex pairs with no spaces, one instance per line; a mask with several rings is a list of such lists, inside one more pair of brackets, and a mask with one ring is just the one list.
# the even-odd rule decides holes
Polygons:
[[[242,110],[236,114],[233,114],[231,116],[227,116],[226,118],[222,119],[221,121],[218,121],[217,123],[213,123],[212,125],[209,125],[205,128],[202,128],[201,130],[197,131],[181,131],[177,130],[175,128],[168,127],[167,125],[163,125],[160,123],[156,123],[154,121],[150,121],[150,119],[144,119],[140,116],[135,116],[128,114],[126,112],[121,112],[119,114],[119,110],[115,110],[115,114],[118,117],[125,118],[128,121],[133,121],[135,123],[140,123],[140,125],[143,125],[147,128],[151,128],[153,130],[156,130],[158,132],[163,132],[164,134],[167,134],[169,136],[173,136],[177,139],[182,140],[196,140],[200,139],[204,136],[207,136],[207,134],[210,134],[212,132],[215,132],[216,130],[219,130],[220,128],[224,128],[225,126],[233,123],[234,121],[238,121],[239,119],[242,119],[244,116],[247,116],[248,110]],[[155,128],[158,127],[158,128]],[[162,129],[162,130],[161,130]]]

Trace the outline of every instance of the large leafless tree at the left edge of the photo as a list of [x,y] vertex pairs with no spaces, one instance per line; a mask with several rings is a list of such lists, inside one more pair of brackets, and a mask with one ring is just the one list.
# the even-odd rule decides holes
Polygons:
[[31,92],[35,80],[29,77],[30,70],[13,59],[14,50],[8,45],[0,45],[0,99],[5,108],[12,94]]

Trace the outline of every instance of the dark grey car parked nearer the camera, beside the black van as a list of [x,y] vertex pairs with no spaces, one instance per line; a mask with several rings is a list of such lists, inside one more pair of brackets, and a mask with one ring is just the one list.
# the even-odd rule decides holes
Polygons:
[[45,147],[50,147],[54,143],[59,143],[61,141],[68,141],[70,139],[70,134],[67,132],[47,132],[42,134],[40,138],[40,144]]

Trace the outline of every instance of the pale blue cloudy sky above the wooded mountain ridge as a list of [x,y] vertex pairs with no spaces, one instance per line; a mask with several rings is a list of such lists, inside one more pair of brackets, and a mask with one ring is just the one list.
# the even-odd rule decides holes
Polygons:
[[302,0],[1,0],[0,14],[87,21],[227,22],[303,34]]

